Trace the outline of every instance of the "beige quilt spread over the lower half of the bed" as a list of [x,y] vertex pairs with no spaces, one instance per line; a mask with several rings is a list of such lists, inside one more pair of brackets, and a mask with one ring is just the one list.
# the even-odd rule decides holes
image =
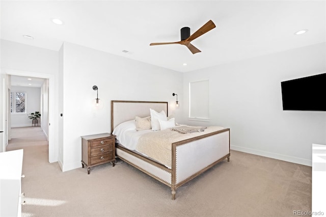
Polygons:
[[153,131],[140,137],[136,150],[171,168],[172,143],[222,129],[224,129],[224,127],[209,126],[205,131],[197,131],[193,133],[180,133],[171,129]]

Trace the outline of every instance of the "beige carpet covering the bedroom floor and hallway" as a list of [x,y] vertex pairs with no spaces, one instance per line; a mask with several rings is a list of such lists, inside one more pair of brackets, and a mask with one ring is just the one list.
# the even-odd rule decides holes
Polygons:
[[[238,151],[177,189],[125,162],[62,172],[40,127],[12,128],[24,149],[22,216],[293,216],[311,211],[311,167]],[[204,156],[203,156],[204,157]],[[80,164],[82,166],[82,164]]]

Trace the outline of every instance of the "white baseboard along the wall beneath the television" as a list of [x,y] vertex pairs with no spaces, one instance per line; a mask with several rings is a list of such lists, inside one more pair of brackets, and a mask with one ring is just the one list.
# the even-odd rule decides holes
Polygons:
[[246,152],[246,153],[249,153],[249,154],[255,154],[255,155],[260,155],[260,156],[264,156],[264,157],[274,158],[274,159],[278,159],[278,160],[293,162],[295,164],[306,165],[306,166],[309,166],[309,167],[312,166],[312,160],[311,159],[293,157],[293,156],[277,154],[277,153],[272,153],[272,152],[267,152],[267,151],[261,151],[261,150],[256,150],[256,149],[251,149],[251,148],[246,148],[246,147],[240,147],[240,146],[235,146],[235,145],[231,145],[230,149],[235,150],[235,151]]

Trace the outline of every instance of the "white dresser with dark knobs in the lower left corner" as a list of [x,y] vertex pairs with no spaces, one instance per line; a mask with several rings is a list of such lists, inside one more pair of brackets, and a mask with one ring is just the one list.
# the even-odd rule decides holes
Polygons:
[[0,152],[0,217],[21,216],[23,149]]

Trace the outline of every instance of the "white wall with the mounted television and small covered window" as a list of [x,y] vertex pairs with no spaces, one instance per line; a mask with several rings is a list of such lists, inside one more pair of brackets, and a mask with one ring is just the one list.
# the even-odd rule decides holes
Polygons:
[[326,71],[325,43],[184,73],[210,80],[211,122],[231,131],[231,148],[311,166],[311,144],[326,144],[326,112],[283,111],[281,82]]

